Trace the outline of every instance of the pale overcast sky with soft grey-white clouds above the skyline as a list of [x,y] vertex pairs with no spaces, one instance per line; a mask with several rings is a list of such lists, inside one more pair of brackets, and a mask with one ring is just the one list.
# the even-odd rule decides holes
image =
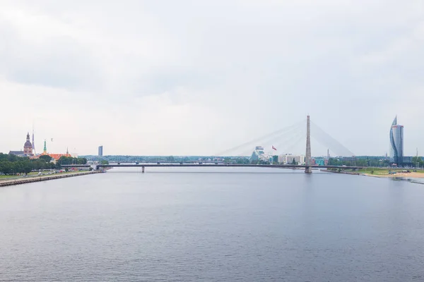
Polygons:
[[420,0],[1,0],[0,38],[0,152],[34,123],[38,152],[216,154],[307,114],[424,152]]

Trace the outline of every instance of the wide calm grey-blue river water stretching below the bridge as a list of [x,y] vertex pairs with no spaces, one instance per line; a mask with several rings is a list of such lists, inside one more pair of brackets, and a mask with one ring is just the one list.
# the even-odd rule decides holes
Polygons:
[[424,185],[146,168],[0,189],[0,281],[424,281]]

